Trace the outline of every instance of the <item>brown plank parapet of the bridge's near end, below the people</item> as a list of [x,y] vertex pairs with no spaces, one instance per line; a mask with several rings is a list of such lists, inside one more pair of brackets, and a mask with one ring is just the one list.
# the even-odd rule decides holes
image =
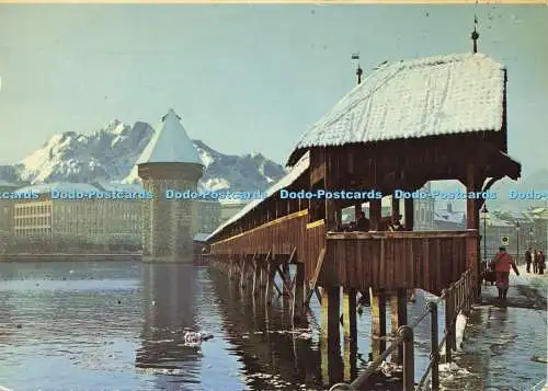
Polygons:
[[422,288],[436,295],[477,271],[478,231],[328,232],[320,286]]

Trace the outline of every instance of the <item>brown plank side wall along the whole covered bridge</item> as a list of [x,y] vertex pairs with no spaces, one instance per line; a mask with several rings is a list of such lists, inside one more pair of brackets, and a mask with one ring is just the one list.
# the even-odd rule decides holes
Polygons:
[[[300,210],[212,244],[218,260],[253,255],[305,264],[306,281],[322,287],[422,288],[435,294],[476,271],[478,231],[326,232]],[[320,253],[326,250],[324,258]],[[318,267],[318,265],[320,267]]]

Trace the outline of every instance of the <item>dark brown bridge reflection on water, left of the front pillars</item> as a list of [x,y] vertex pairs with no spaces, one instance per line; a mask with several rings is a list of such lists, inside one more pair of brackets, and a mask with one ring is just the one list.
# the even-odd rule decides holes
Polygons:
[[[243,364],[246,382],[252,390],[321,389],[320,354],[305,331],[292,332],[283,299],[265,303],[249,289],[240,290],[216,271],[210,271],[222,313],[222,327]],[[252,317],[249,314],[253,313]]]

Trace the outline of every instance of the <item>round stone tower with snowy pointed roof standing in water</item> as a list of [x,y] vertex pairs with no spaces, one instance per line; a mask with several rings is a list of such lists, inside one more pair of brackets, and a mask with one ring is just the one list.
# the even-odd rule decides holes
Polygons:
[[165,191],[196,192],[204,165],[173,110],[162,117],[137,166],[146,191],[153,194],[153,199],[144,203],[144,261],[191,261],[195,203],[167,199]]

